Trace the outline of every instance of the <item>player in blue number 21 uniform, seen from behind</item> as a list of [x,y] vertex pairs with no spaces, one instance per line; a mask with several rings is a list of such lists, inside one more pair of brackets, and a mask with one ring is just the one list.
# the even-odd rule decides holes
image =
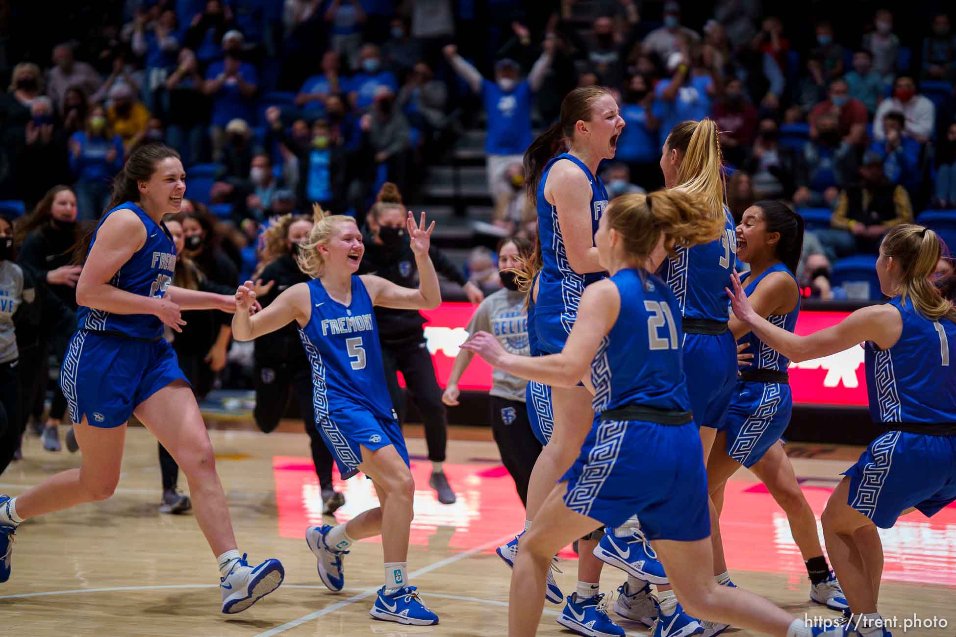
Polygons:
[[[652,272],[667,246],[706,243],[723,228],[699,195],[671,190],[619,197],[595,237],[611,278],[584,291],[560,352],[513,356],[487,332],[462,346],[495,368],[554,389],[574,386],[590,372],[595,388],[597,426],[577,424],[586,436],[580,454],[545,499],[515,558],[511,637],[535,633],[554,552],[588,529],[616,527],[634,514],[690,612],[775,637],[827,634],[710,575],[706,473],[684,382],[680,306]],[[651,480],[661,488],[635,488]]]

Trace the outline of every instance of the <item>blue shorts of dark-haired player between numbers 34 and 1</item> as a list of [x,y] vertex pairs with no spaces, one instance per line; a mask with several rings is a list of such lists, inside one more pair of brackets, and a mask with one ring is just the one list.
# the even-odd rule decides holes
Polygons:
[[739,381],[730,399],[727,454],[750,469],[783,437],[793,412],[793,393],[783,383]]

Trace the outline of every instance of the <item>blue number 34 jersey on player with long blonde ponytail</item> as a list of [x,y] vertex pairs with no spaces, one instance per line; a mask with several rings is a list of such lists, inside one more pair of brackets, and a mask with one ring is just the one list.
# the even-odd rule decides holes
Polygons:
[[[662,276],[677,297],[686,318],[727,321],[730,272],[737,263],[737,233],[733,217],[724,208],[724,233],[709,244],[678,247],[663,263]],[[540,222],[539,222],[540,223]]]

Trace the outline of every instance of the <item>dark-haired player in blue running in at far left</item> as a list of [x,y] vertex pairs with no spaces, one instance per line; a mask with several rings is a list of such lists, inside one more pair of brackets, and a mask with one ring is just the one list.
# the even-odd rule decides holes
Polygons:
[[163,144],[141,146],[115,180],[109,209],[76,248],[79,260],[85,258],[76,283],[79,329],[63,360],[60,387],[83,464],[16,498],[0,496],[0,582],[10,577],[17,524],[113,495],[126,421],[136,414],[189,481],[196,519],[218,556],[223,612],[245,610],[282,583],[285,571],[277,560],[250,566],[236,550],[206,424],[163,339],[163,326],[182,331],[183,309],[236,310],[231,296],[170,286],[176,249],[162,219],[179,212],[184,192],[179,154]]

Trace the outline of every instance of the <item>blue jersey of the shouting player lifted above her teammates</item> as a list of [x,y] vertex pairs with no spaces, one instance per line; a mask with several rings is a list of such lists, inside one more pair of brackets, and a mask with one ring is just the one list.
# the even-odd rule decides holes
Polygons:
[[597,223],[607,207],[607,191],[604,183],[596,175],[592,175],[588,167],[573,155],[562,153],[548,162],[541,175],[541,182],[537,189],[538,236],[541,241],[541,282],[538,284],[537,307],[542,312],[576,312],[577,304],[581,300],[584,288],[604,275],[600,272],[578,274],[568,263],[568,255],[564,250],[564,237],[561,236],[561,226],[557,223],[557,208],[545,199],[544,187],[548,182],[548,175],[554,162],[559,159],[569,159],[584,171],[591,181],[591,244],[594,245],[594,235],[597,232]]

